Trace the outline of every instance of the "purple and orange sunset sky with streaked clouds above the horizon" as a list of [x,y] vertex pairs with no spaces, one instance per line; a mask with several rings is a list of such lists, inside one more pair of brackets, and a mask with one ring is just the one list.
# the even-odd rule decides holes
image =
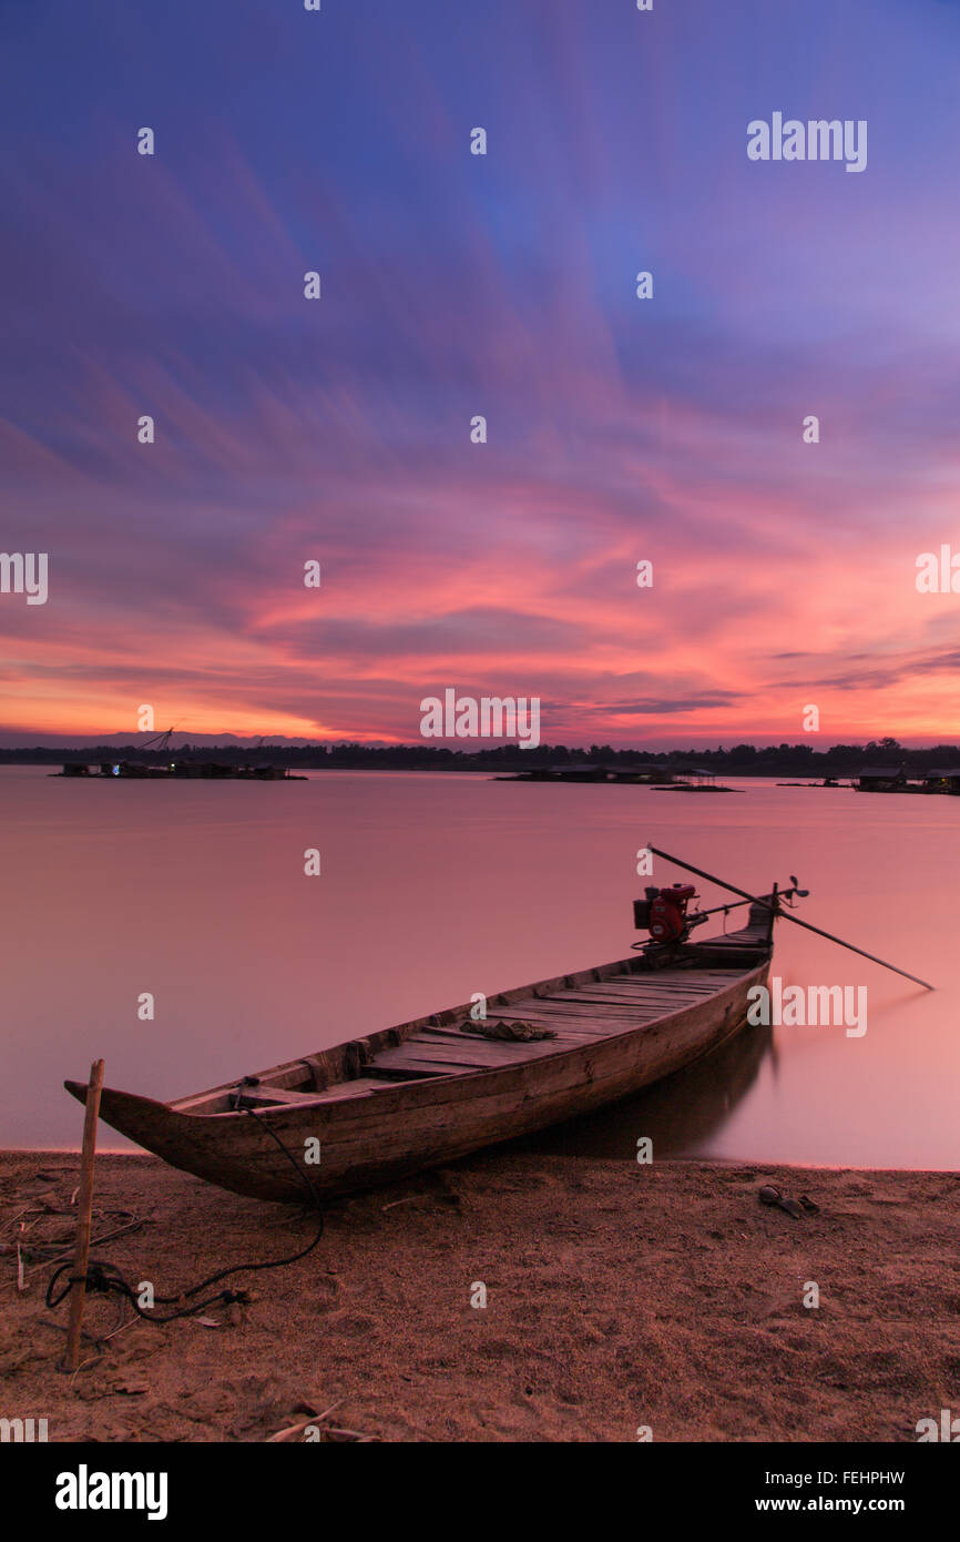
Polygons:
[[[447,686],[547,742],[960,739],[915,588],[960,5],[5,0],[0,43],[0,549],[49,554],[8,740],[410,743]],[[775,111],[866,119],[866,170],[747,160]]]

